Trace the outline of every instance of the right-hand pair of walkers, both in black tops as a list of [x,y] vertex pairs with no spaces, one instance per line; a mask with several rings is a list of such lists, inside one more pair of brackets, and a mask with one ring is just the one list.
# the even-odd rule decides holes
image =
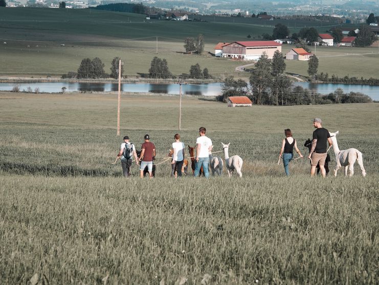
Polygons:
[[[326,143],[329,143],[329,147],[332,145],[329,131],[322,127],[322,120],[320,118],[314,118],[313,126],[316,130],[313,132],[312,146],[309,151],[308,158],[310,159],[310,175],[314,176],[316,173],[316,167],[319,165],[320,171],[323,177],[326,176],[325,171],[325,159],[327,156]],[[303,155],[297,147],[297,142],[292,136],[290,129],[284,130],[285,138],[282,141],[282,147],[279,153],[279,159],[283,159],[283,166],[285,175],[289,175],[288,164],[294,158],[294,148],[301,158]]]

